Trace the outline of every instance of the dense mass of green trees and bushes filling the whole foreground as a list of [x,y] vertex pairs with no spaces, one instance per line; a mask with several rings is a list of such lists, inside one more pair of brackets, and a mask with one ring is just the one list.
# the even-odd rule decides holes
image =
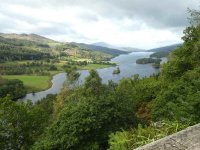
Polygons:
[[199,123],[199,14],[159,75],[103,84],[91,70],[35,105],[1,98],[0,149],[129,150]]

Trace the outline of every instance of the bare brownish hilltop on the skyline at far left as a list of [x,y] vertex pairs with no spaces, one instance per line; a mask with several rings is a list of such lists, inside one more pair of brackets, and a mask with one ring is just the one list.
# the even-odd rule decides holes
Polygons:
[[8,39],[18,39],[18,40],[27,40],[27,41],[33,41],[33,42],[39,42],[39,43],[52,43],[56,42],[54,40],[48,39],[46,37],[37,35],[37,34],[16,34],[16,33],[0,33],[0,36]]

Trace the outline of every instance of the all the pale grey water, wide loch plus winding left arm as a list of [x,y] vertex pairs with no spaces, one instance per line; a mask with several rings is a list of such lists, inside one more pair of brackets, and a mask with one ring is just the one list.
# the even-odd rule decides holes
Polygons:
[[[103,83],[107,83],[109,80],[118,82],[120,79],[131,77],[134,74],[139,74],[140,77],[150,76],[154,73],[158,73],[159,69],[153,68],[151,64],[136,64],[136,60],[144,57],[148,58],[151,54],[152,52],[133,52],[113,58],[111,62],[115,62],[119,65],[121,71],[120,74],[112,74],[115,67],[97,69],[97,71],[102,78]],[[79,83],[83,83],[85,77],[87,77],[89,73],[87,70],[79,72],[81,73]],[[53,77],[52,87],[50,89],[35,93],[34,95],[27,94],[23,100],[29,99],[34,103],[46,97],[48,94],[58,94],[61,91],[65,80],[66,73],[59,73]]]

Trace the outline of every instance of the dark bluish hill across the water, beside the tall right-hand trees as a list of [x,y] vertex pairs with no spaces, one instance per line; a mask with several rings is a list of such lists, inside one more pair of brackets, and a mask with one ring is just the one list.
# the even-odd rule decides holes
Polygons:
[[150,57],[162,58],[162,57],[167,57],[171,51],[175,50],[177,47],[181,45],[182,44],[174,44],[174,45],[159,47],[155,49],[150,49],[148,51],[154,52],[153,54],[150,55]]

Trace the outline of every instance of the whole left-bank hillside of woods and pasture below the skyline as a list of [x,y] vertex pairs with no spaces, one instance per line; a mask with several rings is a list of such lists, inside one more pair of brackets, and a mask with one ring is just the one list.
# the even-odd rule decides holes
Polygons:
[[[84,44],[83,44],[84,45]],[[0,62],[73,57],[107,61],[123,52],[56,42],[36,34],[0,34]]]

